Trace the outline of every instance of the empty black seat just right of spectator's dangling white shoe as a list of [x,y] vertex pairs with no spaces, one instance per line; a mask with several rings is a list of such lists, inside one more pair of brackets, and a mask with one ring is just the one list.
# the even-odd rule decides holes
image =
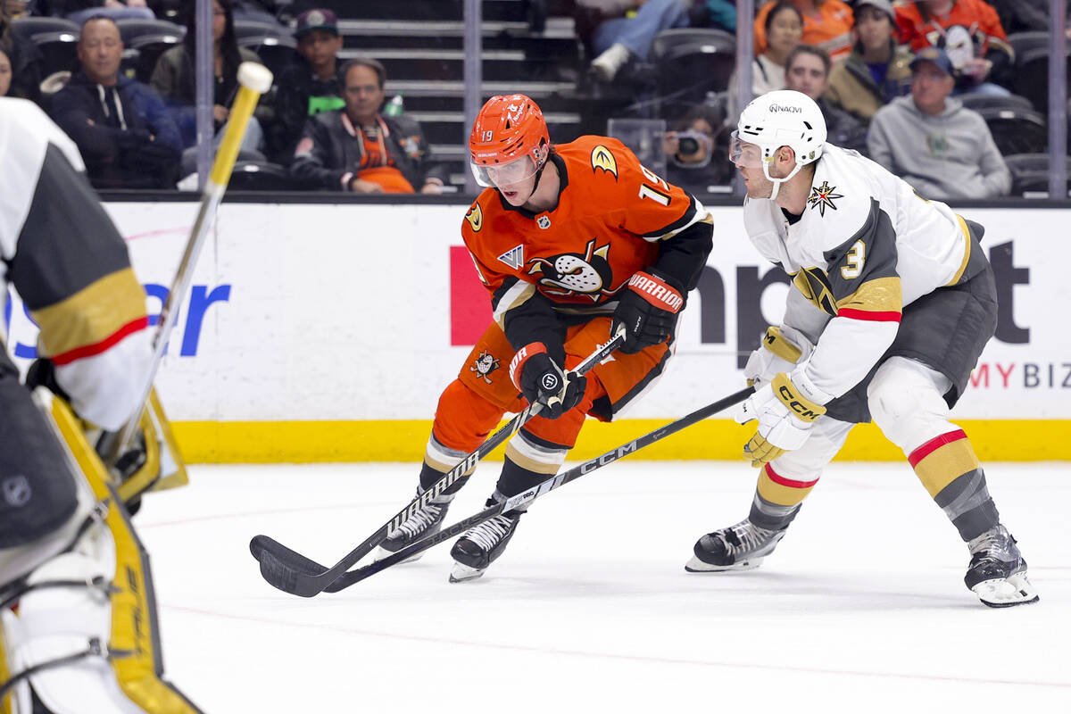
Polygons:
[[725,90],[736,66],[736,37],[724,30],[663,30],[651,44],[649,61],[658,73],[660,97],[703,102]]

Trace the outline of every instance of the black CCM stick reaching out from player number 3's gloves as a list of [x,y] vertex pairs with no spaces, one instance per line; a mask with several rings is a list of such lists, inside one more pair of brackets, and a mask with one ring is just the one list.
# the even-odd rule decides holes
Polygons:
[[[745,389],[742,389],[736,394],[730,394],[724,399],[719,399],[718,401],[707,405],[702,409],[697,409],[687,416],[681,416],[676,422],[670,422],[669,424],[666,424],[661,428],[645,434],[644,436],[637,439],[633,439],[627,444],[622,444],[617,449],[610,450],[605,454],[603,454],[602,456],[597,456],[595,458],[589,459],[584,464],[580,464],[579,466],[574,466],[569,471],[564,471],[555,476],[552,476],[546,481],[543,481],[542,483],[532,486],[528,490],[522,491],[521,493],[517,493],[516,496],[507,499],[502,503],[495,504],[488,508],[481,511],[474,516],[469,516],[468,518],[459,520],[456,523],[450,526],[450,528],[446,528],[434,535],[429,535],[422,541],[418,541],[417,543],[413,543],[407,546],[406,548],[403,548],[402,550],[398,550],[396,553],[388,556],[382,560],[377,560],[374,563],[369,563],[364,567],[359,567],[356,571],[350,571],[348,573],[345,573],[337,580],[328,586],[326,590],[329,593],[338,592],[340,590],[348,588],[356,582],[360,582],[361,580],[364,580],[365,578],[371,577],[376,573],[379,573],[380,571],[390,567],[391,565],[408,560],[413,556],[416,556],[417,553],[427,550],[432,546],[438,545],[443,541],[449,541],[450,538],[454,537],[455,535],[464,533],[470,528],[473,528],[476,526],[479,526],[480,523],[491,520],[495,516],[506,513],[507,511],[510,511],[512,508],[517,508],[523,505],[526,505],[531,501],[534,501],[540,496],[543,496],[548,491],[553,491],[555,488],[558,488],[559,486],[564,486],[569,482],[575,481],[580,476],[587,475],[597,469],[601,469],[604,466],[613,464],[614,461],[624,456],[628,456],[629,454],[634,454],[640,449],[653,444],[655,441],[661,441],[662,439],[668,437],[670,434],[676,434],[677,431],[680,431],[687,426],[691,426],[697,422],[702,422],[703,420],[722,411],[723,409],[727,409],[733,405],[743,401],[749,396],[751,396],[752,393],[754,393],[754,391],[755,391],[754,386],[748,386]],[[313,563],[312,561],[310,561],[310,563],[312,565],[315,565],[315,563]]]

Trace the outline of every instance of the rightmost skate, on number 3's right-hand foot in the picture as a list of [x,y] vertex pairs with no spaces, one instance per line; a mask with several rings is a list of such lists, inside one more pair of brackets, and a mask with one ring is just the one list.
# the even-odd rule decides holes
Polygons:
[[991,528],[967,548],[970,565],[963,581],[983,605],[1011,607],[1038,602],[1038,593],[1026,578],[1026,560],[1007,528]]

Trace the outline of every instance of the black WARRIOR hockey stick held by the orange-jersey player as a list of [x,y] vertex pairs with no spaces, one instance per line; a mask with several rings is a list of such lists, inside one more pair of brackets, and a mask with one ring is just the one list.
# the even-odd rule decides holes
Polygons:
[[[571,375],[583,376],[592,367],[602,362],[624,344],[623,330],[592,352],[580,364],[570,371]],[[353,548],[341,561],[332,567],[323,567],[316,561],[305,558],[301,553],[287,548],[278,541],[267,535],[256,535],[250,541],[250,552],[260,562],[260,575],[274,588],[288,592],[291,595],[301,597],[313,597],[330,586],[334,580],[348,571],[355,563],[372,552],[373,548],[382,543],[387,536],[404,523],[418,508],[423,508],[428,501],[449,488],[464,474],[468,473],[477,462],[495,450],[503,441],[512,437],[521,427],[528,423],[532,416],[538,414],[543,405],[536,402],[524,409],[521,413],[510,420],[510,423],[496,431],[489,439],[476,447],[471,454],[466,456],[454,468],[448,471],[434,486],[418,496],[397,515],[379,527],[364,542]]]

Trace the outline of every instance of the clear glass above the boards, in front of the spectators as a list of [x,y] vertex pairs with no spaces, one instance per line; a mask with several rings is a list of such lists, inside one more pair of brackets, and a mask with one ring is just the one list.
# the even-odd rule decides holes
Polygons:
[[[938,182],[949,197],[993,195],[978,194],[982,184],[1047,195],[1067,180],[1067,73],[1055,82],[1067,63],[1050,57],[1068,51],[1049,30],[1054,11],[1068,27],[1066,0],[940,14],[945,5],[0,0],[0,89],[39,102],[101,188],[196,189],[238,65],[257,61],[275,81],[246,132],[236,189],[469,195],[476,111],[492,94],[523,92],[542,107],[553,141],[615,135],[667,180],[727,195],[727,138],[744,97],[788,87],[817,98],[833,143],[876,151],[900,173],[956,165]],[[210,18],[207,81],[198,7]],[[754,21],[738,17],[752,13]],[[937,116],[945,128],[927,132],[926,117]],[[920,128],[885,131],[908,120]],[[965,180],[994,172],[1007,176]]]

